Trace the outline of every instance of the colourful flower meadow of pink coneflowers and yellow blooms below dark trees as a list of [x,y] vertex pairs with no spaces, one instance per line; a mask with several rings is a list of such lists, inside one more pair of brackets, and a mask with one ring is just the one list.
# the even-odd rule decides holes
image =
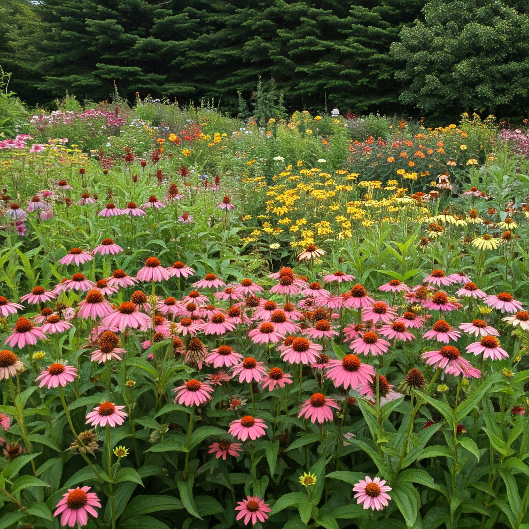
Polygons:
[[529,527],[524,131],[67,103],[0,138],[0,529]]

